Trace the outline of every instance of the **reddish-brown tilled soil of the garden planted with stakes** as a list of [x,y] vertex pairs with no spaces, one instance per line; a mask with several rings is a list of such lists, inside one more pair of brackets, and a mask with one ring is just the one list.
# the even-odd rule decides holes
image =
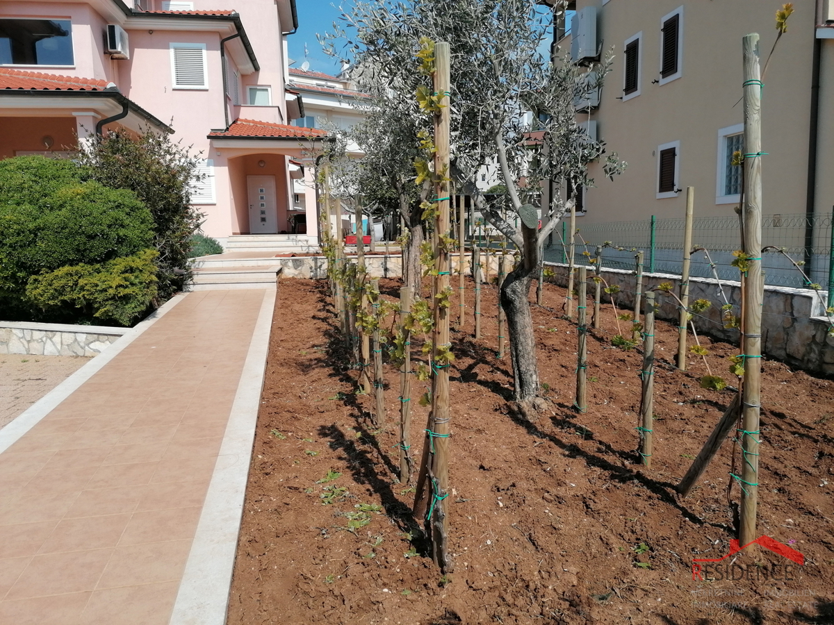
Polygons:
[[[399,282],[382,288],[394,296]],[[610,348],[616,331],[606,306],[603,330],[588,341],[589,408],[575,412],[576,334],[560,318],[564,293],[547,285],[551,308],[534,307],[551,408],[535,422],[508,403],[509,357],[494,351],[494,287],[484,291],[483,338],[471,338],[471,318],[464,333],[453,332],[455,570],[442,579],[421,555],[414,496],[395,478],[399,374],[386,363],[388,428],[374,432],[373,398],[354,394],[356,371],[324,281],[280,281],[229,623],[834,622],[834,383],[762,361],[759,531],[790,543],[805,565],[785,576],[771,567],[787,561],[761,549],[734,569],[759,579],[696,582],[691,558],[721,557],[736,536],[726,498],[731,442],[689,498],[674,487],[731,391],[699,388],[700,358],[690,358],[690,372],[673,368],[676,334],[659,323],[655,449],[651,469],[641,468],[641,354]],[[736,348],[702,343],[716,373],[726,373]],[[415,383],[413,397],[422,392]],[[412,403],[421,442],[426,408]],[[330,469],[341,477],[319,483]],[[347,492],[328,505],[330,486]],[[737,501],[737,486],[732,494]],[[344,514],[360,504],[381,508],[367,526],[344,530]],[[774,570],[792,579],[761,577]]]

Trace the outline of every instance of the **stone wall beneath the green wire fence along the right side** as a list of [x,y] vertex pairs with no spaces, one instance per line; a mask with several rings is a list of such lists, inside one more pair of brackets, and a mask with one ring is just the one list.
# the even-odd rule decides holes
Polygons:
[[[554,270],[555,276],[550,282],[567,285],[567,265],[562,263],[545,263]],[[593,269],[588,269],[588,275]],[[608,284],[620,287],[620,293],[615,294],[617,306],[625,308],[625,312],[634,310],[635,273],[624,269],[602,270],[602,279]],[[644,273],[643,288],[653,288],[661,283],[672,283],[675,293],[680,293],[681,277],[667,273]],[[710,308],[695,316],[693,321],[699,333],[713,338],[719,338],[728,343],[739,343],[739,332],[736,328],[724,328],[721,320],[721,291],[713,278],[690,278],[690,303],[696,299],[707,299],[712,303]],[[733,304],[733,313],[740,314],[738,305],[741,303],[741,284],[737,282],[721,281],[729,303]],[[589,288],[589,295],[593,289]],[[825,294],[823,294],[825,297]],[[607,302],[607,295],[603,296]],[[678,303],[674,298],[657,295],[660,309],[657,316],[669,321],[676,321]],[[762,352],[769,358],[781,360],[791,366],[804,369],[812,373],[826,375],[834,374],[834,337],[828,336],[829,323],[825,318],[822,303],[816,293],[804,288],[787,288],[766,286],[761,315],[761,344]]]

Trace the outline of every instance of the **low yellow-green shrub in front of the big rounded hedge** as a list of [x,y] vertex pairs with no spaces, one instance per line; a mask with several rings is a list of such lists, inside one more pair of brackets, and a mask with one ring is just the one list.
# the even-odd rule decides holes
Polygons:
[[147,249],[106,263],[44,272],[29,278],[26,295],[50,318],[129,326],[157,297],[156,256]]

